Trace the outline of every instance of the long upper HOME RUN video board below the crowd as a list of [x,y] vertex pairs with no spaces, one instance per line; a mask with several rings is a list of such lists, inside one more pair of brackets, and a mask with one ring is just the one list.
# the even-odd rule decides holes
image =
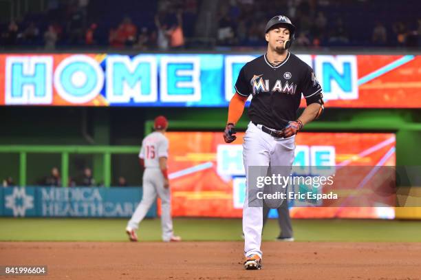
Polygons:
[[[0,105],[226,107],[259,55],[0,54]],[[298,56],[326,107],[421,108],[421,56]]]

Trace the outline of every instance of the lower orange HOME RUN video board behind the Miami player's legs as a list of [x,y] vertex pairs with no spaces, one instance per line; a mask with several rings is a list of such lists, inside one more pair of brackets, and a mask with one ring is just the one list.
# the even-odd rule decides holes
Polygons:
[[[220,132],[183,131],[166,135],[170,142],[173,215],[241,217],[246,178],[243,146],[239,140],[244,133],[237,133],[237,141],[231,144],[224,142]],[[380,166],[396,164],[396,138],[393,133],[305,132],[299,133],[295,142],[294,172],[314,177],[333,167],[334,170],[327,175],[341,175],[334,179],[334,186],[342,191],[342,195],[356,190],[363,190],[358,195],[365,195],[363,192],[370,191],[366,186],[376,183],[373,180],[384,177],[384,174],[394,175],[393,171],[379,169]],[[341,198],[341,193],[338,195]],[[346,199],[340,200],[340,203],[320,204],[291,200],[291,215],[300,218],[393,218],[391,204],[394,200],[391,202],[390,198],[393,199],[380,197],[374,200],[369,197],[361,203]],[[376,207],[380,205],[378,202],[383,202],[381,207]]]

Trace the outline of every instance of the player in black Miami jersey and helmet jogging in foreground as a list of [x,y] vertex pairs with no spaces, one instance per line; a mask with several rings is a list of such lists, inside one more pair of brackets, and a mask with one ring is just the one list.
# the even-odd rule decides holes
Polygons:
[[[251,94],[248,109],[251,121],[243,144],[246,182],[249,180],[248,166],[288,166],[284,175],[289,175],[294,162],[296,133],[323,112],[322,89],[312,68],[288,51],[294,33],[295,26],[288,17],[270,19],[265,29],[266,54],[246,63],[235,83],[237,92],[230,100],[224,140],[230,143],[236,139],[235,125]],[[301,94],[307,107],[298,117]],[[261,268],[263,207],[248,205],[256,199],[249,197],[249,187],[243,208],[244,268],[254,270]]]

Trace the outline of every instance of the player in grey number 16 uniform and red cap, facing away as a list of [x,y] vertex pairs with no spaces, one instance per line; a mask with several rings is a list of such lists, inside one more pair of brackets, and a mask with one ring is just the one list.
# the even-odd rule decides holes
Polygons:
[[144,168],[143,196],[127,224],[126,233],[129,235],[130,241],[138,241],[136,230],[155,202],[156,195],[161,199],[162,240],[166,242],[181,241],[181,237],[173,234],[171,219],[171,193],[166,165],[169,148],[169,141],[165,137],[167,127],[166,118],[158,116],[155,118],[155,131],[142,141],[139,162],[140,166]]

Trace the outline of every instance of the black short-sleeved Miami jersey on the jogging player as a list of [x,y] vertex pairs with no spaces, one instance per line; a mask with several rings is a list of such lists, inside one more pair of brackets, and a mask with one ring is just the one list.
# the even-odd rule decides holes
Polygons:
[[277,66],[269,63],[266,54],[246,63],[239,72],[235,90],[241,96],[252,94],[248,109],[252,122],[278,130],[296,120],[301,94],[307,105],[322,97],[312,68],[290,52]]

